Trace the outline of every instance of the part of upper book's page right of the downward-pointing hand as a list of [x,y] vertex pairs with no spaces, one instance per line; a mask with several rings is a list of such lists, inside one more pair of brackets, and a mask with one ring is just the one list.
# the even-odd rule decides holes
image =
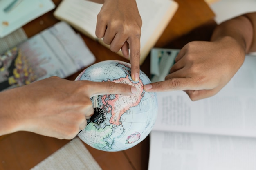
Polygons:
[[136,2],[142,19],[142,63],[177,11],[178,4],[173,0],[136,0]]

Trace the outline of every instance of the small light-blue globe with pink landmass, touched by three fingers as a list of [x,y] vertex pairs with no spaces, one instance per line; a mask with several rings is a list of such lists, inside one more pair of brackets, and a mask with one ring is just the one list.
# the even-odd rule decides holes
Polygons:
[[76,78],[126,83],[138,90],[135,96],[106,94],[90,98],[94,114],[78,136],[91,147],[109,152],[126,150],[143,141],[152,130],[157,118],[157,98],[155,93],[143,89],[151,81],[142,71],[139,81],[133,81],[130,73],[129,63],[106,60],[91,65]]

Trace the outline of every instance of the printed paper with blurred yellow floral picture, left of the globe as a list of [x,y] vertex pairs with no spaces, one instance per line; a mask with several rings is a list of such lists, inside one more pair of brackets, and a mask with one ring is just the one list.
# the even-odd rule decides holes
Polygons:
[[66,78],[94,61],[81,36],[58,22],[0,55],[0,91],[50,76]]

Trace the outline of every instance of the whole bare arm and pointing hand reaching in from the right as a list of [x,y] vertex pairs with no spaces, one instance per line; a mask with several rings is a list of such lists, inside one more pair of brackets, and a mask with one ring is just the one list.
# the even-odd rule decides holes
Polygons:
[[256,12],[218,25],[211,42],[186,44],[166,80],[145,85],[144,89],[184,90],[193,101],[213,96],[241,67],[245,54],[252,51],[256,51]]

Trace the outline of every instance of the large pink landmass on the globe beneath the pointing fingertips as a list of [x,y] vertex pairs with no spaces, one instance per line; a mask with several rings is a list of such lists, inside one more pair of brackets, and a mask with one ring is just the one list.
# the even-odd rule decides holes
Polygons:
[[[139,79],[138,83],[133,83],[130,81],[128,78],[128,75],[125,78],[120,78],[118,80],[114,80],[113,82],[115,83],[124,83],[124,84],[130,84],[134,85],[138,92],[135,94],[135,96],[122,96],[122,95],[115,95],[114,99],[110,98],[110,95],[103,95],[101,97],[101,101],[103,103],[104,110],[106,110],[107,113],[111,113],[111,118],[110,118],[110,123],[112,125],[121,125],[122,123],[120,121],[121,116],[129,110],[131,107],[135,107],[139,105],[139,102],[141,101],[141,98],[144,96],[144,91],[143,91],[143,83],[141,79]],[[132,83],[132,84],[131,84]],[[127,101],[129,103],[127,103]],[[122,105],[120,110],[115,109],[115,105]]]

